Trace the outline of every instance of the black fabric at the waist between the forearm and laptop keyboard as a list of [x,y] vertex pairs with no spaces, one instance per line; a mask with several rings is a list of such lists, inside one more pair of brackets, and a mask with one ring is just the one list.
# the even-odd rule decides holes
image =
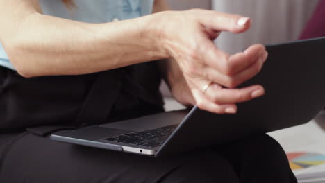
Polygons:
[[[155,62],[148,62],[88,75],[36,78],[0,67],[0,130],[28,128],[46,135],[163,112],[155,67]],[[121,115],[140,106],[147,110]]]

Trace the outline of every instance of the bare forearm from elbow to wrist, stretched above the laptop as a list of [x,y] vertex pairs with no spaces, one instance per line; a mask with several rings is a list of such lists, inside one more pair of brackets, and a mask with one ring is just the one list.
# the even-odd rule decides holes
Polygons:
[[24,76],[94,73],[166,58],[156,44],[155,16],[87,24],[36,12],[1,42]]

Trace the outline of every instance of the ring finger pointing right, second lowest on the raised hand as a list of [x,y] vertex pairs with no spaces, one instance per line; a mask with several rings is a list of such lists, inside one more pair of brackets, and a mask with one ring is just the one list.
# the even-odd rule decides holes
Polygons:
[[206,96],[219,105],[228,103],[243,103],[265,94],[265,89],[260,85],[253,85],[241,89],[220,88],[213,84],[206,90]]

